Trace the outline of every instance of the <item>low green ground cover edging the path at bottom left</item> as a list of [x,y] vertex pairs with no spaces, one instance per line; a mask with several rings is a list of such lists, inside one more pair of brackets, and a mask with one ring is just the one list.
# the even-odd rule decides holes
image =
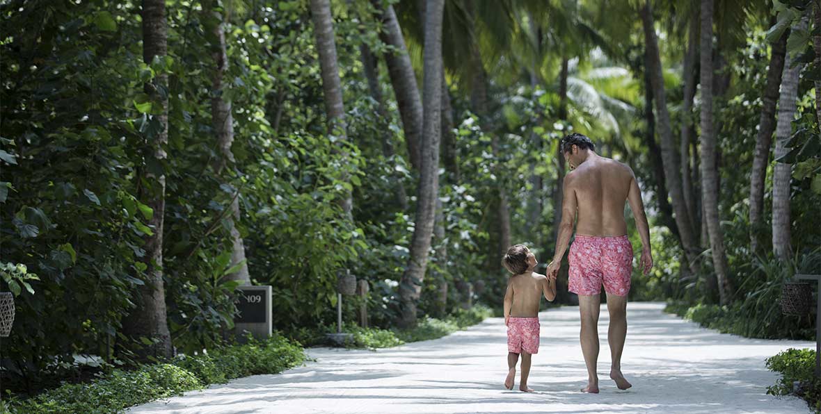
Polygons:
[[63,384],[34,398],[11,401],[0,412],[57,414],[122,412],[137,404],[180,395],[209,384],[223,384],[248,375],[275,374],[300,365],[299,343],[275,334],[266,341],[218,348],[207,354],[179,356],[170,363],[114,369],[85,384]]

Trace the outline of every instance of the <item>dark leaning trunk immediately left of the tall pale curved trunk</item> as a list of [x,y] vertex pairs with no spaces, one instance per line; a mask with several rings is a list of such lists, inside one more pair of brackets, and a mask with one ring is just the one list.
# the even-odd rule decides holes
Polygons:
[[417,171],[420,167],[420,142],[422,141],[422,99],[419,88],[416,86],[416,74],[410,64],[405,46],[405,38],[399,27],[397,15],[392,6],[383,9],[380,0],[372,0],[374,7],[381,11],[383,31],[379,32],[379,39],[393,48],[396,53],[385,53],[385,63],[388,65],[388,75],[391,78],[393,93],[397,97],[399,116],[402,119],[402,130],[405,131],[410,166]]

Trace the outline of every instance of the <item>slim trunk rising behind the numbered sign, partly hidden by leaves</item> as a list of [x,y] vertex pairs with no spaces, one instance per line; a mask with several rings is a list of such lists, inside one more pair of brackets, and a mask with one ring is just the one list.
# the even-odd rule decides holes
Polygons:
[[[234,153],[231,152],[231,146],[234,142],[234,117],[231,113],[231,102],[227,102],[222,98],[224,92],[222,90],[224,87],[222,77],[225,76],[225,71],[227,71],[228,57],[225,46],[225,31],[222,29],[222,13],[215,11],[214,14],[218,19],[218,25],[214,26],[213,32],[218,43],[213,45],[213,59],[216,68],[212,84],[211,119],[213,130],[217,134],[217,145],[221,156],[214,162],[214,170],[217,171],[217,175],[221,175],[227,166],[234,163]],[[236,221],[240,220],[239,196],[232,198],[229,208],[231,208],[231,214],[226,216],[226,225],[232,240],[231,266],[239,264],[241,266],[238,271],[227,275],[226,278],[236,280],[243,285],[250,285],[248,264],[245,262],[245,243],[242,241],[240,231],[236,229]]]

